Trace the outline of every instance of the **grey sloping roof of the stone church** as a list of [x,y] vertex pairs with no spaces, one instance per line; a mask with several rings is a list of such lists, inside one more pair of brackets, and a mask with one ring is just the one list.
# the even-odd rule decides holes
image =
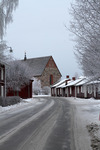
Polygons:
[[31,58],[22,61],[32,68],[33,76],[35,77],[42,75],[50,57],[52,56]]

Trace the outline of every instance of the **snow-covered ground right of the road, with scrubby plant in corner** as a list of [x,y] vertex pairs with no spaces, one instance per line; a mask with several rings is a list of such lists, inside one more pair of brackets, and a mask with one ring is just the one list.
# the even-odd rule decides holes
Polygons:
[[72,104],[76,150],[100,150],[100,100],[67,99]]

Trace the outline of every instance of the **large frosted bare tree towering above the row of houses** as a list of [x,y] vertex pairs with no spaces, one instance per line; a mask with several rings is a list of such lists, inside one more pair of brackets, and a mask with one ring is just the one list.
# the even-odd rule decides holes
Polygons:
[[100,77],[100,1],[75,0],[70,30],[75,35],[76,56],[85,76]]

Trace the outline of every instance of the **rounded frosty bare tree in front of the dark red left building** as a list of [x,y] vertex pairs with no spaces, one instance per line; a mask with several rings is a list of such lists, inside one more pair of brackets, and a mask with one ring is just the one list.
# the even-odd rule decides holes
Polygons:
[[29,83],[31,77],[32,72],[29,66],[21,61],[10,62],[6,70],[7,89],[20,91],[22,86]]

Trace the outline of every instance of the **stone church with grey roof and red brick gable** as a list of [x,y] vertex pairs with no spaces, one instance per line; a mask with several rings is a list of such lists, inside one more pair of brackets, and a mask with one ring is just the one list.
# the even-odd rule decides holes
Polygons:
[[22,61],[32,69],[32,77],[41,81],[41,87],[50,87],[62,76],[52,56],[27,59],[25,54]]

